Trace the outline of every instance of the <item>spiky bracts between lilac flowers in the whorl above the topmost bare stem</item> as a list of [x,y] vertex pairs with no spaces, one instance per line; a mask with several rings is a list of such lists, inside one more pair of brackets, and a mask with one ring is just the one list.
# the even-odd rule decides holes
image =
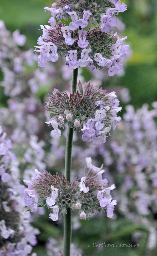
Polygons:
[[[56,23],[55,27],[46,28],[45,30],[49,35],[45,39],[45,42],[52,42],[53,44],[55,44],[58,48],[57,53],[61,58],[66,57],[66,55],[68,55],[68,51],[77,50],[78,59],[81,59],[82,49],[80,49],[80,47],[77,44],[79,38],[79,29],[70,31],[72,37],[75,38],[75,42],[73,45],[67,45],[63,37],[63,32],[61,31],[61,27],[63,26],[66,26],[66,24],[60,21],[59,23]],[[113,50],[110,47],[115,44],[115,41],[112,40],[112,33],[103,33],[101,29],[95,27],[92,30],[88,29],[87,38],[89,41],[89,46],[87,48],[92,49],[89,53],[91,59],[94,59],[94,55],[96,53],[102,54],[103,58],[106,59],[109,59],[112,56]],[[99,69],[104,69],[104,67],[99,66],[96,61],[94,61],[94,65]]]

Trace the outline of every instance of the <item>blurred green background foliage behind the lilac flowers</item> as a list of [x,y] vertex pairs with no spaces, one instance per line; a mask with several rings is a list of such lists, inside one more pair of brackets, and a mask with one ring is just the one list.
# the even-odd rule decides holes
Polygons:
[[[120,18],[126,25],[124,36],[128,37],[127,44],[130,45],[132,55],[127,61],[124,76],[109,79],[105,86],[120,85],[129,88],[130,103],[135,109],[144,103],[148,103],[151,107],[151,102],[157,100],[157,1],[125,0],[125,3],[127,11],[120,13]],[[28,50],[37,44],[37,38],[41,35],[38,31],[40,24],[48,24],[50,13],[45,12],[44,7],[50,7],[51,4],[52,2],[47,0],[1,1],[0,19],[5,21],[8,30],[13,32],[19,28],[21,34],[26,35],[25,49]],[[88,72],[83,71],[83,75],[88,80]],[[1,72],[0,76],[2,79]],[[2,92],[1,87],[0,106],[6,104],[6,97]],[[146,251],[148,230],[144,225],[123,220],[123,216],[119,216],[118,220],[110,220],[102,216],[81,221],[81,224],[82,228],[73,232],[73,242],[76,242],[86,255],[148,255]],[[62,236],[62,229],[60,224],[56,227],[55,223],[47,220],[47,216],[40,216],[34,225],[42,231],[38,236],[39,244],[34,251],[38,256],[45,255],[45,241],[50,235],[54,238]],[[138,230],[142,231],[139,248],[116,247],[117,243],[131,243],[131,234]],[[114,247],[105,247],[103,251],[95,253],[95,248],[86,246],[88,242],[91,244],[105,242],[114,244]],[[151,256],[157,255],[156,253]]]

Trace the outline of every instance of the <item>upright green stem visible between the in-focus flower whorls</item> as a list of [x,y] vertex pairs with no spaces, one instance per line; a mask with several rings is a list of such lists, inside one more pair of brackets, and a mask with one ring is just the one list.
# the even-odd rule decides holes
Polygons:
[[[73,70],[72,92],[76,92],[78,68]],[[72,145],[73,129],[68,127],[65,147],[65,178],[70,182],[72,169]],[[64,256],[70,256],[70,243],[72,237],[71,227],[71,209],[66,208],[67,214],[64,214]]]

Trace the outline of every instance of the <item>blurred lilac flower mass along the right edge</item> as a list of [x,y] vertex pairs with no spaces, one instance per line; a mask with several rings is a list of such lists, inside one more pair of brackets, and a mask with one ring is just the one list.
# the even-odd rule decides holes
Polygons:
[[[129,194],[130,202],[138,214],[148,215],[150,208],[153,212],[157,208],[155,122],[146,104],[136,112],[133,106],[127,105],[123,119],[122,133],[119,132],[117,141],[112,138],[111,151],[118,172],[125,173],[122,190],[128,191],[134,186],[135,191]],[[125,201],[126,207],[128,199]]]

